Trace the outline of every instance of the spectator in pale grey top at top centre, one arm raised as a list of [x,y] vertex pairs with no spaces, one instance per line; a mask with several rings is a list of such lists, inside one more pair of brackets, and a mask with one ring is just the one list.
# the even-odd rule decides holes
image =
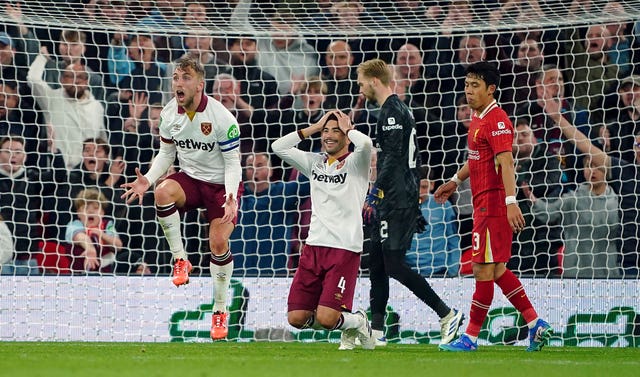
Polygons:
[[[257,33],[249,19],[252,0],[240,0],[231,15],[231,26]],[[270,38],[258,38],[258,66],[275,77],[280,94],[295,94],[305,79],[320,75],[318,56],[295,30],[292,14],[270,17]]]

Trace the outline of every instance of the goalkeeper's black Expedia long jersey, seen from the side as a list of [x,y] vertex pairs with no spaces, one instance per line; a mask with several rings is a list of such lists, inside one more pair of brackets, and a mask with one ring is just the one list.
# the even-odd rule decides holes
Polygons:
[[384,191],[379,209],[418,206],[420,151],[409,107],[393,94],[382,104],[376,124],[376,187]]

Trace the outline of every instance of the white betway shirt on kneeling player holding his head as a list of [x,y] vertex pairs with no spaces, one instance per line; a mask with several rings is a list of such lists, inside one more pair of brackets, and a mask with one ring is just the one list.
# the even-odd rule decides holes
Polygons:
[[355,150],[329,163],[322,153],[303,152],[292,132],[273,145],[273,151],[309,178],[311,183],[311,224],[306,243],[362,252],[362,207],[369,188],[371,139],[349,131]]

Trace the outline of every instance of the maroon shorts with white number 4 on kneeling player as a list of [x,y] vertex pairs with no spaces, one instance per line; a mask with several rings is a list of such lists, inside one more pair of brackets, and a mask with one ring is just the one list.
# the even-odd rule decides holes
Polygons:
[[359,267],[359,253],[305,245],[289,289],[289,311],[313,311],[318,305],[351,311]]

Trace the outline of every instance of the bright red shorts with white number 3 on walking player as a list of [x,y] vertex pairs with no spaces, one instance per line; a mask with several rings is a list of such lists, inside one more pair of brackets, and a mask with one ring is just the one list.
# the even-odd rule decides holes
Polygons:
[[471,261],[507,263],[511,258],[513,232],[507,216],[478,216],[473,219]]

